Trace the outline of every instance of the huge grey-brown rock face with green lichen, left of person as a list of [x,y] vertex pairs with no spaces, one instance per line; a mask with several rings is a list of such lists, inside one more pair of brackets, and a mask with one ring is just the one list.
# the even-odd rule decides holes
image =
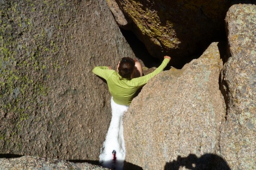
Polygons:
[[91,70],[124,56],[104,0],[0,0],[0,153],[98,160],[110,94]]

